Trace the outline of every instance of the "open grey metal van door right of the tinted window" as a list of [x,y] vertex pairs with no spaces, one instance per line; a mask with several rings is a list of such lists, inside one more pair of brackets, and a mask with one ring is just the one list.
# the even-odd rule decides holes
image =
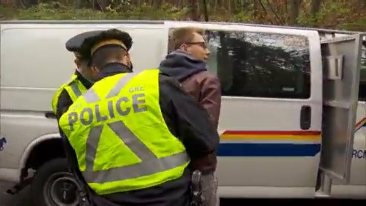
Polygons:
[[[362,34],[321,40],[323,65],[320,169],[330,193],[332,179],[348,184],[354,141]],[[328,180],[328,181],[327,181]],[[324,190],[323,190],[324,191]],[[329,195],[329,194],[328,194]]]

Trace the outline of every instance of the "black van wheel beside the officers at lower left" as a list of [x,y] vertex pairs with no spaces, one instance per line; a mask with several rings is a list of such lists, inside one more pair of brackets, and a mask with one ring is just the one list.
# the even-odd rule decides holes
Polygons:
[[68,170],[67,159],[52,159],[37,169],[31,198],[39,206],[76,206],[78,184]]

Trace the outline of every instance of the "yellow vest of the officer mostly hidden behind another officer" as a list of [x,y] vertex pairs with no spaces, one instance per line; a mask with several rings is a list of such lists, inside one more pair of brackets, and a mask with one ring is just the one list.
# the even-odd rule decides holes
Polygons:
[[55,114],[56,114],[56,110],[57,110],[57,102],[59,102],[61,92],[64,89],[67,91],[72,102],[75,102],[75,100],[79,96],[81,96],[84,92],[86,92],[86,90],[87,90],[86,87],[83,85],[83,83],[80,80],[78,80],[78,76],[76,74],[73,74],[71,76],[71,79],[67,83],[61,85],[61,87],[59,89],[57,89],[55,95],[53,95],[52,110],[53,110],[53,113],[55,113]]

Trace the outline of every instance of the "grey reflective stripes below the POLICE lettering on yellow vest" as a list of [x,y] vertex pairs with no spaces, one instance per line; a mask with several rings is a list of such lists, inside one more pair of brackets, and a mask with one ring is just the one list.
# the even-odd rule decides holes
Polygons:
[[142,177],[165,170],[176,168],[187,162],[185,152],[158,159],[121,121],[108,123],[109,128],[126,144],[140,159],[141,163],[109,170],[93,171],[96,150],[103,125],[90,130],[86,147],[86,169],[83,176],[89,183],[105,183]]

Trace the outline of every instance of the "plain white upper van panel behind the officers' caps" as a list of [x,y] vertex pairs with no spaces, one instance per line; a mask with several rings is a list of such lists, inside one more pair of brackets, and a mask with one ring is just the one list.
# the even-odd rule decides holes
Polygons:
[[[66,41],[82,32],[113,27],[83,24],[18,26],[21,27],[14,25],[1,30],[2,110],[51,111],[50,100],[56,89],[68,81],[75,70],[73,54],[65,48]],[[134,39],[131,56],[132,60],[136,59],[133,62],[135,71],[158,67],[167,49],[168,34],[162,25],[114,27],[129,32]],[[146,48],[154,48],[154,51]],[[33,76],[37,78],[30,78]]]

